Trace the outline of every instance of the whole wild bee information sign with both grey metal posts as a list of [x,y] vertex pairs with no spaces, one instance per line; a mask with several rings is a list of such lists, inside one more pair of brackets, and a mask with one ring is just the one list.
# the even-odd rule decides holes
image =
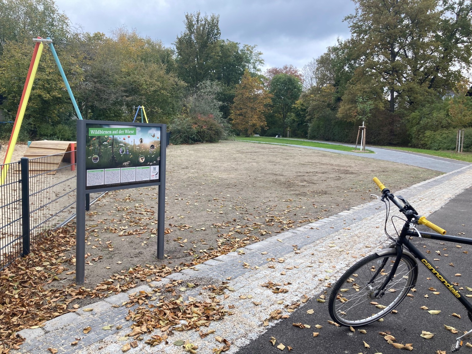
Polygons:
[[85,281],[85,195],[158,186],[157,256],[164,258],[165,124],[77,121],[76,284]]

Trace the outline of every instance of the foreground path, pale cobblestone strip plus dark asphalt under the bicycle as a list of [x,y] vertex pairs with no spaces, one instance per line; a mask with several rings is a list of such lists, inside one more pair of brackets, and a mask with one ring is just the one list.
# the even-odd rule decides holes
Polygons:
[[[471,185],[472,167],[465,166],[398,191],[398,194],[402,194],[412,202],[419,212],[429,216]],[[465,215],[468,210],[467,204],[463,209],[463,214],[459,215],[460,219],[469,220],[470,217]],[[394,214],[395,210],[392,208],[392,215]],[[434,215],[430,219],[436,221]],[[388,245],[388,239],[382,232],[383,220],[385,220],[383,203],[373,201],[330,218],[271,236],[264,241],[248,245],[244,249],[238,249],[238,252],[206,261],[194,269],[173,273],[160,282],[141,285],[127,293],[110,294],[110,297],[98,303],[87,305],[87,307],[93,307],[91,312],[79,309],[77,312],[47,321],[42,328],[22,330],[20,334],[26,338],[25,344],[19,352],[13,351],[13,353],[49,353],[48,348],[57,349],[59,354],[121,353],[121,347],[133,341],[132,338],[118,340],[122,340],[130,332],[129,327],[133,323],[125,319],[128,309],[122,306],[122,303],[128,299],[128,295],[139,290],[149,293],[154,290],[159,291],[158,289],[162,289],[171,281],[182,280],[184,285],[187,282],[198,284],[211,282],[218,286],[221,281],[227,281],[228,278],[230,279],[228,286],[232,289],[225,293],[229,296],[225,298],[219,295],[217,300],[233,314],[225,316],[222,320],[212,321],[208,327],[201,328],[204,332],[214,329],[216,331],[214,334],[201,338],[197,331],[174,331],[169,337],[169,345],[161,343],[153,347],[144,343],[149,339],[149,335],[143,335],[143,340],[138,341],[137,347],[132,348],[129,353],[185,353],[183,347],[172,345],[177,340],[194,343],[199,347],[197,353],[212,353],[214,348],[222,346],[215,340],[215,336],[224,337],[231,343],[230,349],[225,352],[228,354],[238,351],[241,353],[278,353],[280,350],[269,342],[272,336],[285,346],[293,347],[294,353],[308,354],[320,351],[321,353],[385,354],[394,352],[396,349],[391,346],[385,347],[387,342],[376,334],[380,330],[391,331],[399,341],[413,343],[414,348],[426,348],[430,345],[431,347],[428,348],[434,349],[434,351],[419,349],[417,353],[434,353],[437,349],[445,350],[455,335],[442,329],[443,323],[457,329],[468,330],[467,327],[470,326],[466,313],[459,306],[454,305],[455,307],[451,309],[446,307],[452,300],[449,294],[441,294],[444,296],[439,297],[439,295],[428,293],[429,298],[424,298],[423,296],[427,295],[428,291],[425,288],[418,288],[414,297],[407,298],[405,301],[405,303],[414,301],[412,306],[415,311],[410,312],[408,308],[400,307],[396,315],[388,316],[384,322],[378,322],[367,329],[368,334],[372,336],[368,341],[366,340],[366,343],[371,345],[369,350],[363,347],[365,338],[359,332],[356,331],[354,334],[349,329],[330,325],[327,322],[329,320],[327,303],[316,301],[326,290],[327,285],[336,281],[354,262]],[[440,222],[438,224],[445,226]],[[464,224],[467,225],[467,222]],[[462,230],[461,227],[459,229]],[[395,232],[390,225],[388,225],[388,232]],[[464,232],[466,232],[465,227]],[[445,247],[435,244],[433,248],[426,248],[426,250],[435,254],[435,251],[445,252],[442,248]],[[464,264],[461,264],[465,262],[463,258],[466,256],[461,252],[468,248],[465,246],[462,249],[457,248],[459,251],[455,250],[455,247],[450,248],[447,250],[450,254],[447,257],[450,258],[438,256],[442,259],[441,267],[449,267],[454,272],[461,271],[464,276],[457,278],[457,281],[461,285],[464,282],[464,285],[472,287],[472,279],[466,271],[468,268],[464,269]],[[430,257],[432,258],[432,255]],[[449,262],[455,263],[456,268],[448,266]],[[432,281],[425,280],[420,283],[426,283],[426,289],[432,286],[440,287],[438,282],[432,284]],[[262,284],[270,282],[279,284],[277,287],[283,287],[287,289],[287,292],[274,293],[269,287],[262,287]],[[439,288],[439,290],[444,293],[442,289]],[[182,295],[184,301],[189,301],[190,297],[201,301],[208,301],[211,298],[210,290],[203,288],[202,285],[185,289],[179,295]],[[439,315],[430,315],[418,309],[423,305],[442,312]],[[444,307],[439,308],[439,306]],[[315,312],[313,315],[308,315],[306,311],[311,308]],[[461,314],[462,319],[452,317],[452,312]],[[289,317],[280,321],[280,319],[271,319],[271,314],[272,317],[281,315]],[[305,319],[303,314],[312,317]],[[311,328],[295,328],[292,323],[296,322],[303,322]],[[316,324],[322,325],[323,328],[315,329]],[[436,327],[433,327],[433,324]],[[112,329],[103,330],[102,327],[107,325],[113,326]],[[116,329],[117,325],[123,327]],[[413,326],[410,327],[411,325]],[[84,334],[83,329],[88,326],[92,329]],[[423,343],[426,339],[419,337],[421,329],[438,334],[430,339],[430,342]],[[295,332],[291,332],[294,330]],[[319,332],[320,335],[313,337],[313,332]],[[155,331],[154,334],[161,334],[161,332]],[[295,334],[303,336],[295,337]],[[414,337],[408,337],[407,334]],[[72,346],[71,343],[76,342],[76,338],[79,340]],[[377,350],[377,348],[383,349]],[[467,349],[464,348],[464,352]],[[287,351],[287,348],[285,350]]]

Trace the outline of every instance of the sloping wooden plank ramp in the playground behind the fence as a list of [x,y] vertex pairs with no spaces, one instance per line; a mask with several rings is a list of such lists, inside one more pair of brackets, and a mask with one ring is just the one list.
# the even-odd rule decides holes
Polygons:
[[[74,150],[76,150],[75,141],[34,141],[28,146],[23,157],[35,159],[29,161],[28,169],[30,172],[41,173],[50,171],[49,173],[54,175],[62,161],[70,162],[71,154],[67,154],[66,152],[70,152],[72,146],[74,146]],[[38,159],[45,156],[47,157],[44,159]]]

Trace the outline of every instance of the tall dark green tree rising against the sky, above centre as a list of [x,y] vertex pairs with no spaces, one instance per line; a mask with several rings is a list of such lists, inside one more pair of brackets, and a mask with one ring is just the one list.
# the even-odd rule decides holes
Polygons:
[[185,83],[196,88],[210,78],[219,61],[219,16],[186,13],[184,23],[185,32],[175,42],[177,70]]

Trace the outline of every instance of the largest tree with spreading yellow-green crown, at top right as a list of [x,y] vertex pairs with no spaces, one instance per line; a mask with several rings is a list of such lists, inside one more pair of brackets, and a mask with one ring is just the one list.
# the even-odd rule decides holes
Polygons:
[[[469,0],[356,0],[351,28],[356,71],[350,90],[372,84],[388,111],[405,112],[432,92],[454,89],[472,50]],[[363,79],[368,76],[369,79]],[[365,85],[361,89],[365,88]],[[377,95],[377,93],[375,93]],[[385,97],[385,98],[384,98]],[[343,105],[356,97],[343,97]],[[349,112],[349,107],[344,110]]]

